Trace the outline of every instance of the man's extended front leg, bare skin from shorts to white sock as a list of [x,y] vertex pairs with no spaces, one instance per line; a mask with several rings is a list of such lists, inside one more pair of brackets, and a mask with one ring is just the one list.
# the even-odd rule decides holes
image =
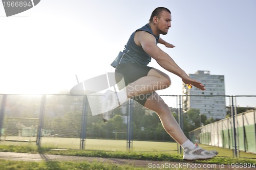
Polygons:
[[145,107],[155,111],[158,114],[165,131],[179,144],[182,144],[188,140],[173,114],[170,112],[169,107],[156,92],[147,99]]

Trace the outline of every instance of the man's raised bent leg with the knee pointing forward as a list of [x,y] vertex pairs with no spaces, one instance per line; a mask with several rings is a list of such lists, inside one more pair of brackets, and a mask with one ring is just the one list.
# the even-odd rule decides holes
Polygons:
[[146,94],[152,91],[164,89],[170,86],[170,79],[168,75],[162,71],[152,68],[147,76],[142,77],[135,82],[126,86],[127,98],[139,94]]

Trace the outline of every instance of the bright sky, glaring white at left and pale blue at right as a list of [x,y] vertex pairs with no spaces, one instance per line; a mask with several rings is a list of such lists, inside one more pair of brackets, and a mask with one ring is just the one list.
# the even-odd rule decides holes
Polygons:
[[[41,0],[6,17],[0,4],[0,93],[58,93],[79,80],[113,72],[110,66],[128,38],[159,6],[172,12],[172,28],[159,45],[187,73],[225,76],[226,95],[256,95],[256,1],[254,0]],[[160,94],[182,94],[170,76]],[[206,87],[207,88],[207,87]],[[255,98],[238,105],[256,107]]]

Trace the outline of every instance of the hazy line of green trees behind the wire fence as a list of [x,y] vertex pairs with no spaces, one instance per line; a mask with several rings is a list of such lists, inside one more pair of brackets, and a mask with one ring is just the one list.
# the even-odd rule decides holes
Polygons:
[[[80,138],[81,131],[86,130],[88,138],[126,139],[127,103],[112,111],[113,113],[108,123],[103,122],[102,115],[92,116],[90,106],[88,106],[86,127],[82,128],[82,101],[82,96],[48,96],[43,120],[42,122],[39,119],[37,120],[38,124],[39,122],[42,123],[42,135],[48,137]],[[36,126],[36,120],[32,121],[20,118],[39,118],[40,108],[41,100],[38,97],[35,100],[26,98],[26,96],[8,96],[5,112],[5,127],[9,128],[6,130],[12,130],[12,134],[17,134],[19,124],[23,124],[25,127]],[[178,109],[170,108],[170,110],[178,121]],[[183,129],[187,136],[189,131],[201,125],[215,122],[212,118],[206,119],[206,116],[200,114],[198,109],[191,109],[186,114],[182,114],[182,116]],[[7,117],[17,117],[18,119],[14,119],[15,121],[11,123]],[[30,123],[31,121],[33,123]],[[10,129],[10,127],[13,128]],[[173,141],[163,129],[157,114],[145,109],[136,102],[133,105],[132,129],[134,140]]]

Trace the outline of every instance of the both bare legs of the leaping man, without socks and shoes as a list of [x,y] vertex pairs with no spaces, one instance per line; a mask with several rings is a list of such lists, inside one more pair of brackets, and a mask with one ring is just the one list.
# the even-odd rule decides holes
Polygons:
[[[147,76],[126,86],[126,92],[128,98],[131,98],[135,95],[154,92],[156,90],[167,88],[168,86],[170,86],[169,77],[162,71],[153,68],[148,72]],[[188,140],[173,114],[170,112],[169,107],[156,92],[154,92],[146,101],[145,107],[158,114],[165,131],[179,144]]]

